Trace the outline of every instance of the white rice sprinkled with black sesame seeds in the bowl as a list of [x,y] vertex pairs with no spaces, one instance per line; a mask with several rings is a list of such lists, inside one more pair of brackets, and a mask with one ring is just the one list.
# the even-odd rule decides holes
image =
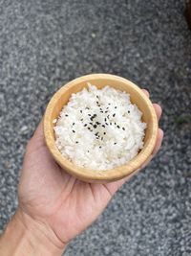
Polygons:
[[146,124],[141,115],[127,93],[110,86],[97,89],[88,83],[88,89],[72,94],[53,120],[55,144],[79,167],[113,169],[142,149]]

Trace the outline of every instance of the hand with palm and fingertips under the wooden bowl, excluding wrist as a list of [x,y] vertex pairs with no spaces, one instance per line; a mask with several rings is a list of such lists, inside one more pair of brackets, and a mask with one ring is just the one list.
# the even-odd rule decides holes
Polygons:
[[[158,118],[159,105],[154,105]],[[162,132],[154,150],[160,147]],[[127,178],[126,178],[127,179]],[[19,184],[19,203],[34,220],[46,222],[62,242],[68,242],[96,220],[126,179],[90,184],[67,174],[44,143],[42,124],[28,147]]]

